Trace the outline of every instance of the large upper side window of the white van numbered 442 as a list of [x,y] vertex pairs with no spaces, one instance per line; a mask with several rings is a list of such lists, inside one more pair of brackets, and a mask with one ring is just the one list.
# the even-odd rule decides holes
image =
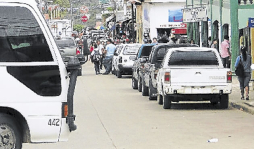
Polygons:
[[24,7],[0,6],[0,62],[53,61],[42,30]]

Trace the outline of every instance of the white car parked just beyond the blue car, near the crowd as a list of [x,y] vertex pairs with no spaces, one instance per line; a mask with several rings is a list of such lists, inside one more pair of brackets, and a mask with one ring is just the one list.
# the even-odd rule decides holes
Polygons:
[[140,47],[141,44],[123,44],[119,53],[116,53],[115,73],[118,78],[132,74],[132,66]]

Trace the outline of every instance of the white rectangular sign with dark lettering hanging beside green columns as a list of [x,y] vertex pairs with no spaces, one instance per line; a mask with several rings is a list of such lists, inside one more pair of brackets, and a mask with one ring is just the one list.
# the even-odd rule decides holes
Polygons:
[[207,21],[206,7],[183,9],[183,22]]

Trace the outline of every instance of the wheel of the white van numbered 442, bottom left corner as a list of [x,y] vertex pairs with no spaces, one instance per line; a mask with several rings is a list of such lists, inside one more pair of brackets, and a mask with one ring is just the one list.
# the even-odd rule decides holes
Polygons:
[[22,148],[21,133],[16,124],[11,116],[0,114],[0,148]]

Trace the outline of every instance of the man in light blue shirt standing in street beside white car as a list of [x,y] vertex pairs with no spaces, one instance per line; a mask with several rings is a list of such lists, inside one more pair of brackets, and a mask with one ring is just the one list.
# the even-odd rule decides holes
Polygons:
[[114,56],[116,50],[116,46],[112,44],[111,39],[107,40],[107,46],[105,49],[105,58],[104,58],[104,65],[106,66],[106,71],[103,75],[108,75],[112,70],[112,58]]

